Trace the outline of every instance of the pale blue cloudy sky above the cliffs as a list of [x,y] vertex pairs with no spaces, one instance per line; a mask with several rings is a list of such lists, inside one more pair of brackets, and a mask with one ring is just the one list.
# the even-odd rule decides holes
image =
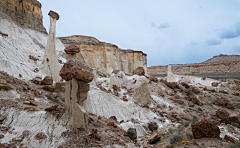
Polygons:
[[240,54],[240,0],[40,0],[57,36],[87,35],[147,53],[148,66]]

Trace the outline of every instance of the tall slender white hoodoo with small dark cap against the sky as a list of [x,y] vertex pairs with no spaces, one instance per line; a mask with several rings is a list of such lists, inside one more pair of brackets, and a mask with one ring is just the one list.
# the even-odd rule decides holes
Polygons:
[[58,63],[57,59],[55,47],[55,29],[59,15],[54,11],[50,11],[48,15],[50,16],[50,29],[47,46],[43,57],[42,69],[46,75],[51,76],[55,82],[58,82],[60,81],[58,72],[61,69],[61,65]]

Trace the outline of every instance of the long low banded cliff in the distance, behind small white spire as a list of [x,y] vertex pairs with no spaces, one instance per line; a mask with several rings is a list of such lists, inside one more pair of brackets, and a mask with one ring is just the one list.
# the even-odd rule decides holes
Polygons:
[[[150,75],[164,75],[167,74],[167,66],[148,67],[148,74]],[[172,72],[179,75],[229,75],[240,73],[240,62],[222,62],[222,63],[206,63],[194,64],[185,66],[172,66]]]

